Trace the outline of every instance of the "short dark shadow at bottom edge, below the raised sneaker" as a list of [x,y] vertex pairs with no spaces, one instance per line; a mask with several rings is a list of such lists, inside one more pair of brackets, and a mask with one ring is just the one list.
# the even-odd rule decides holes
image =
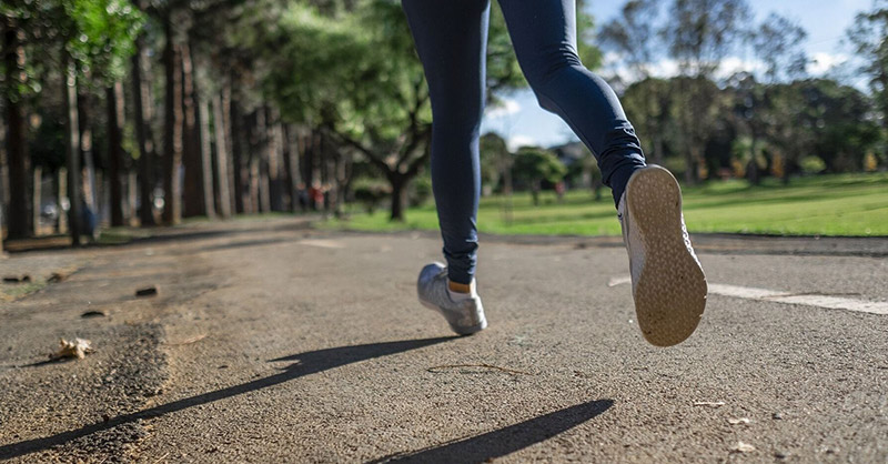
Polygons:
[[597,400],[565,407],[495,430],[483,435],[452,441],[411,453],[398,453],[371,461],[374,463],[483,463],[524,450],[568,431],[614,405],[613,400]]

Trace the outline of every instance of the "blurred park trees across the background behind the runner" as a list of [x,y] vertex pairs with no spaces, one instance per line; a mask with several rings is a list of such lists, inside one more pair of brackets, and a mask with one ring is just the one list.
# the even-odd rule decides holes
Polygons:
[[[887,4],[847,32],[868,89],[807,75],[806,32],[755,23],[745,0],[629,0],[599,28],[579,2],[579,52],[687,182],[884,169]],[[0,23],[9,238],[383,198],[403,220],[428,196],[431,109],[398,1],[31,0],[2,2]],[[526,85],[497,7],[487,58],[495,107]],[[598,192],[582,145],[551,149],[485,135],[485,194]]]

